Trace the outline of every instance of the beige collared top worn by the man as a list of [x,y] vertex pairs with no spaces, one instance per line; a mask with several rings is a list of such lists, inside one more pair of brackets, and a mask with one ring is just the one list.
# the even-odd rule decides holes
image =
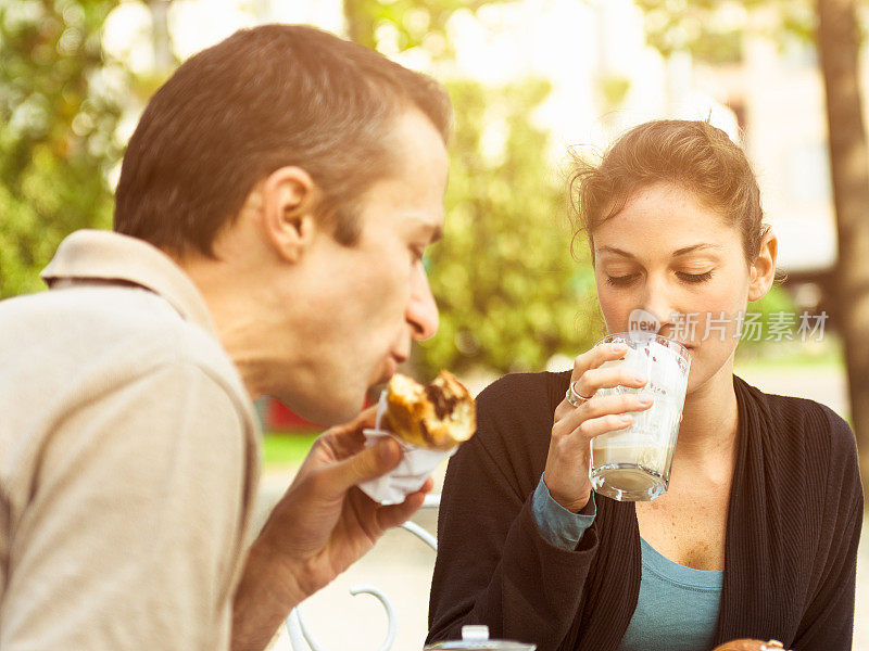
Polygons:
[[79,231],[0,303],[0,650],[221,650],[259,472],[202,297]]

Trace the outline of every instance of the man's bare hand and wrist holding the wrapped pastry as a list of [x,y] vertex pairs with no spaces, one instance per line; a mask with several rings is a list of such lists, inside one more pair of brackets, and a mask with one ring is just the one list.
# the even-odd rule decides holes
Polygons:
[[388,528],[413,515],[429,478],[400,505],[383,507],[356,484],[399,464],[391,438],[365,449],[362,430],[375,408],[315,442],[251,547],[236,593],[234,649],[263,649],[289,611],[367,552]]

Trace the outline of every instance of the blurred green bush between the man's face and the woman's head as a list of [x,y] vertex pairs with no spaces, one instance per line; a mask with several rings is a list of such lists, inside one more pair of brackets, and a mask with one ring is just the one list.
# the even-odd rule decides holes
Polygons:
[[468,80],[449,90],[457,119],[446,227],[429,256],[441,329],[415,361],[425,376],[475,365],[540,370],[556,353],[585,349],[600,332],[600,321],[588,318],[588,248],[577,246],[580,259],[571,258],[566,183],[547,133],[532,120],[550,86]]

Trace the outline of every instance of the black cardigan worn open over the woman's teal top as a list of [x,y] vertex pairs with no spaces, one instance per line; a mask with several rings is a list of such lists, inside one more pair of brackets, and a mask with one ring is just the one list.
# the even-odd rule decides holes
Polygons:
[[[480,394],[477,434],[446,471],[428,641],[487,624],[539,651],[618,648],[640,591],[633,503],[596,496],[575,551],[546,542],[531,513],[569,375],[507,375]],[[822,405],[733,385],[739,451],[715,643],[848,650],[862,522],[854,434]]]

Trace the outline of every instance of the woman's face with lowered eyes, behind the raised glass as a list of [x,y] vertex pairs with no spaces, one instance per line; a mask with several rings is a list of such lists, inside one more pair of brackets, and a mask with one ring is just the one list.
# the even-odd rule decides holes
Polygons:
[[652,312],[658,333],[691,352],[689,393],[722,373],[729,378],[741,316],[769,289],[758,288],[761,275],[746,261],[740,231],[693,193],[655,183],[629,196],[593,231],[593,242],[607,332],[629,330],[635,309]]

